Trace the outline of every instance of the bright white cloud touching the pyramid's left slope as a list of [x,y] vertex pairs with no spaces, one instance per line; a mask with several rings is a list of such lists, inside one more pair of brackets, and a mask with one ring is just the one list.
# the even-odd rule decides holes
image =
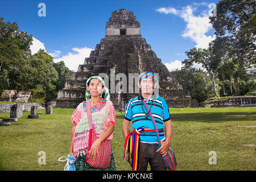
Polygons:
[[72,50],[75,51],[76,53],[69,52],[68,55],[64,55],[62,57],[58,57],[58,58],[53,57],[53,61],[55,63],[59,61],[64,61],[66,67],[76,72],[79,65],[84,64],[85,57],[89,57],[90,51],[93,51],[93,49],[88,47],[82,47],[82,48],[76,47],[76,48],[72,48]]

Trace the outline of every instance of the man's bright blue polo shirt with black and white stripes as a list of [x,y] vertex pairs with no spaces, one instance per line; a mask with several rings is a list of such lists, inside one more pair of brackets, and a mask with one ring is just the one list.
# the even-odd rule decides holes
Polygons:
[[[163,123],[171,119],[171,115],[170,115],[166,100],[164,100],[163,97],[156,95],[156,98],[154,100],[151,96],[148,101],[146,98],[144,98],[144,101],[147,103],[148,108],[150,108],[150,105],[152,103],[150,111],[155,119],[156,126],[158,127],[158,129],[163,129],[164,128]],[[144,103],[143,103],[143,109],[145,113],[148,112]],[[145,118],[145,114],[143,113],[142,106],[141,106],[141,100],[139,100],[138,96],[135,98],[131,98],[129,100],[129,102],[125,107],[124,117],[126,120],[133,122],[133,130],[138,129],[139,127],[142,127],[142,126],[144,126],[146,129],[154,129],[154,126],[150,117]],[[164,136],[164,131],[160,132],[159,135],[160,135],[161,141],[166,138]],[[141,138],[141,142],[146,142],[146,143],[155,143],[158,141],[156,138],[155,132],[141,133],[140,138]]]

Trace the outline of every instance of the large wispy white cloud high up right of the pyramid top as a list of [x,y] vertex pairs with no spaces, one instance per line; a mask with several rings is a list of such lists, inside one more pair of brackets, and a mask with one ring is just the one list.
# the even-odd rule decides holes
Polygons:
[[209,43],[216,38],[215,35],[205,35],[209,30],[212,29],[212,24],[209,23],[209,15],[204,13],[199,16],[195,16],[193,14],[195,10],[196,7],[188,5],[183,7],[181,10],[176,10],[174,7],[162,7],[156,11],[159,13],[180,16],[180,18],[187,23],[182,36],[196,42],[196,48],[208,48]]

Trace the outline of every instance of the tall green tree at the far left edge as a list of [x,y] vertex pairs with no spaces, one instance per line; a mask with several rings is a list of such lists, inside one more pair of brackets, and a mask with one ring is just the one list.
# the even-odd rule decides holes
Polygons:
[[0,92],[26,87],[16,80],[22,77],[22,69],[27,67],[26,57],[31,55],[31,44],[32,35],[19,31],[15,22],[5,23],[0,17]]

